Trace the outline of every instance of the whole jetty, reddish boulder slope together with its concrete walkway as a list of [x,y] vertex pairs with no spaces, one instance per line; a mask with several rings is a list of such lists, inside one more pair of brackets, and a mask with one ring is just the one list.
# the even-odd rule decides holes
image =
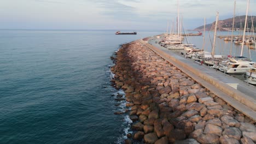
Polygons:
[[255,87],[179,56],[159,40],[122,45],[111,68],[133,122],[125,143],[256,142]]

